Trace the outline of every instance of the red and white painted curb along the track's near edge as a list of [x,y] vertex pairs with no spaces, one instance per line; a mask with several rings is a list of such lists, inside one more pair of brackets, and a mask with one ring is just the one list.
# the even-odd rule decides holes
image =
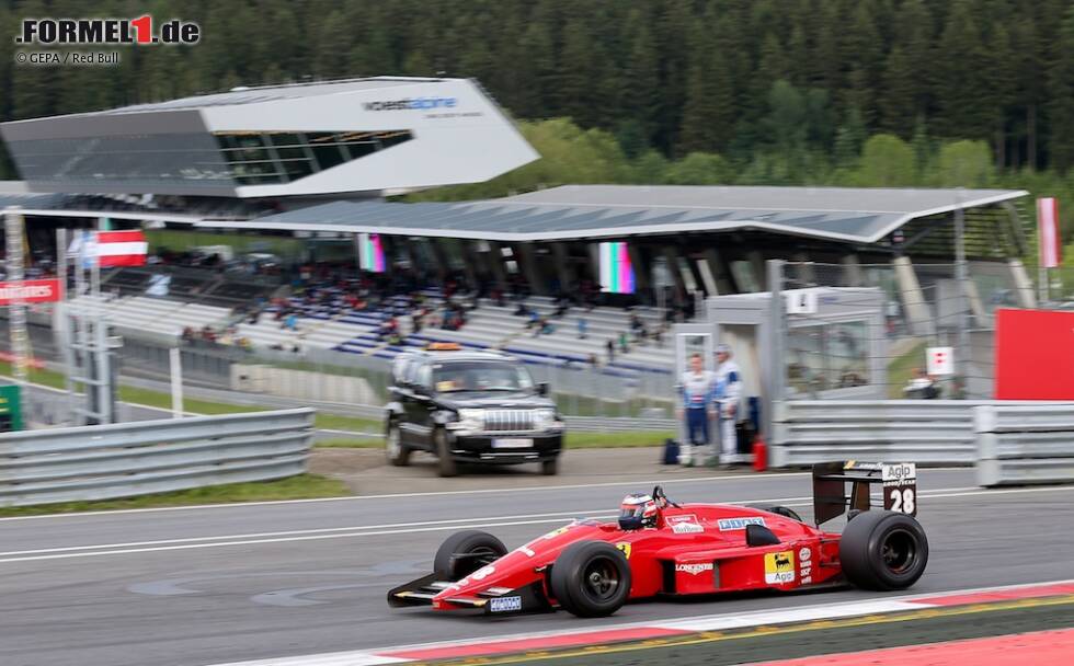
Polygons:
[[890,613],[923,608],[941,608],[967,604],[985,604],[1036,597],[1074,594],[1074,579],[1028,585],[982,587],[948,593],[864,599],[841,604],[821,604],[799,608],[765,609],[743,613],[725,613],[632,624],[612,624],[596,630],[563,630],[523,633],[464,641],[400,645],[377,650],[334,652],[295,657],[232,662],[215,666],[377,666],[416,661],[488,657],[518,652],[578,647],[621,641],[644,641],[690,634],[701,631],[724,631],[750,627],[788,624],[814,620],[835,620],[859,616]]

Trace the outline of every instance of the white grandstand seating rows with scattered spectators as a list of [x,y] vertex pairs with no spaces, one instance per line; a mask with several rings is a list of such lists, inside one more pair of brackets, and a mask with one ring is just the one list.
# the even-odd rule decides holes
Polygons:
[[[552,299],[530,297],[525,301],[526,307],[548,318],[553,326],[550,333],[534,335],[526,328],[529,318],[514,314],[516,302],[501,307],[483,300],[476,310],[467,313],[467,323],[458,331],[426,326],[414,333],[410,330],[410,303],[405,297],[393,297],[376,310],[357,311],[346,306],[342,292],[333,294],[333,289],[328,289],[329,296],[323,297],[322,290],[322,298],[316,302],[307,303],[300,297],[289,299],[288,307],[296,315],[296,328],[290,330],[284,326],[285,319],[276,319],[276,306],[265,308],[256,323],[250,323],[249,315],[236,315],[230,308],[203,302],[208,300],[207,296],[216,294],[221,300],[209,302],[253,306],[265,296],[264,288],[258,285],[215,279],[217,282],[206,286],[204,280],[198,283],[196,277],[184,275],[176,279],[173,276],[169,297],[157,298],[142,295],[148,273],[119,272],[110,277],[107,285],[121,294],[137,295],[110,298],[104,307],[114,325],[128,330],[179,335],[185,326],[201,330],[210,325],[219,330],[233,323],[237,336],[247,338],[254,347],[335,349],[386,359],[409,348],[423,347],[430,342],[457,342],[467,348],[501,348],[528,364],[555,367],[582,367],[589,364],[591,356],[595,356],[605,372],[636,377],[641,372],[670,372],[674,358],[670,340],[656,346],[652,341],[638,343],[630,334],[631,313],[638,314],[650,331],[659,326],[660,312],[651,308],[636,308],[630,312],[604,307],[592,310],[571,308],[565,315],[553,319],[556,303]],[[185,294],[186,299],[196,302],[176,300],[176,292]],[[444,305],[438,290],[429,289],[424,296],[426,305],[438,314],[438,309]],[[87,297],[79,300],[88,302]],[[388,345],[379,337],[381,322],[391,313],[400,315],[403,336],[400,345]],[[587,323],[584,340],[578,335],[581,317]],[[626,354],[618,344],[619,334],[624,332],[629,336],[629,352]],[[616,347],[615,359],[610,364],[606,363],[609,340]]]

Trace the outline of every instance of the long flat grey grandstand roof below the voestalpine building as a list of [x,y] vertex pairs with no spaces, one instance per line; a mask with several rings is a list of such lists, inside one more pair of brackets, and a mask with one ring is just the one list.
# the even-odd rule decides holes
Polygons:
[[202,227],[342,231],[499,241],[763,230],[872,243],[907,221],[1026,196],[1020,190],[564,185],[501,199],[333,202]]

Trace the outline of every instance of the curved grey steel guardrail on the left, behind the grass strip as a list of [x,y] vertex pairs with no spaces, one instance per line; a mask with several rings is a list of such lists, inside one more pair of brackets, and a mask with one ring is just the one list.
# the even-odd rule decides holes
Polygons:
[[106,500],[300,474],[315,410],[0,436],[0,506]]

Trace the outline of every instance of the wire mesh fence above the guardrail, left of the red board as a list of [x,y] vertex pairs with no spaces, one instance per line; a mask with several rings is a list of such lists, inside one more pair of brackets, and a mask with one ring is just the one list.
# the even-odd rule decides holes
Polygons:
[[[955,264],[784,263],[784,291],[808,289],[820,303],[837,298],[843,312],[819,314],[823,309],[804,297],[788,310],[786,397],[845,398],[853,394],[847,389],[867,386],[889,399],[991,397],[995,310],[1019,307],[1025,286],[1007,264],[969,262],[968,268],[961,288]],[[952,371],[927,372],[930,347],[953,349]]]

